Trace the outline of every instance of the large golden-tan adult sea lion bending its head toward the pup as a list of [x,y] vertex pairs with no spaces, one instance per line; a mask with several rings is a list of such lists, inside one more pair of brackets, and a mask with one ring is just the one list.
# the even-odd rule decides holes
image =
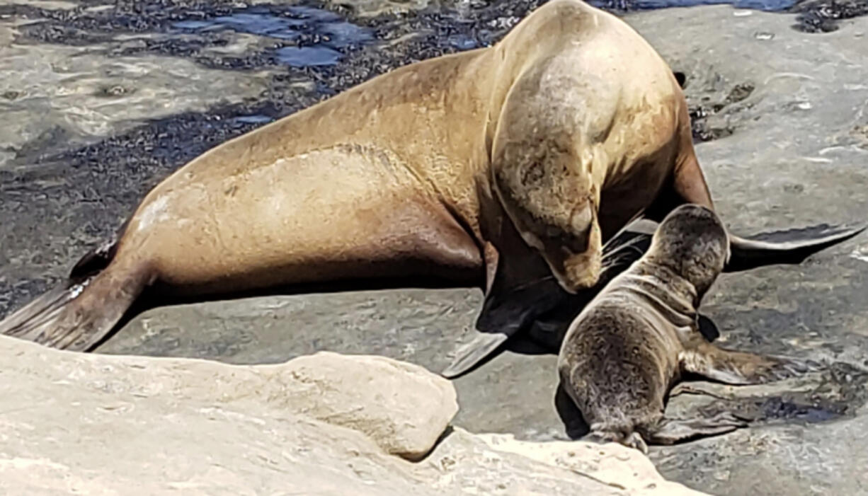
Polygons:
[[[615,16],[554,0],[493,47],[393,70],[203,153],[0,333],[85,350],[148,287],[437,276],[486,294],[489,334],[454,375],[593,286],[623,225],[685,201],[712,205],[666,62]],[[779,262],[850,235],[732,238],[733,258]]]

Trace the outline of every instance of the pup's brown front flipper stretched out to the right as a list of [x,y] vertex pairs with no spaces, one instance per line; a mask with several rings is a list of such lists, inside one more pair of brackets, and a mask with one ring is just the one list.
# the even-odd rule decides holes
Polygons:
[[808,360],[731,351],[710,343],[700,343],[680,358],[685,371],[734,385],[781,381],[819,369],[819,363]]

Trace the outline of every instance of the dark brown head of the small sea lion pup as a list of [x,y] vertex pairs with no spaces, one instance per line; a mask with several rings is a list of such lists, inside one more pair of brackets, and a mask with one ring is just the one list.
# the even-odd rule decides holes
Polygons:
[[729,259],[729,236],[720,218],[705,206],[679,206],[654,232],[648,260],[667,266],[704,294]]

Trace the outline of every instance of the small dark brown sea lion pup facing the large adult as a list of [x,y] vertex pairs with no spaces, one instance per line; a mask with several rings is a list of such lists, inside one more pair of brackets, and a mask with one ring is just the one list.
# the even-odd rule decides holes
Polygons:
[[672,444],[727,433],[746,424],[726,413],[663,416],[669,388],[682,373],[756,384],[810,368],[790,358],[720,349],[700,334],[696,309],[728,257],[727,231],[717,215],[704,206],[680,206],[657,228],[648,252],[570,324],[557,369],[592,437],[647,452],[646,441]]

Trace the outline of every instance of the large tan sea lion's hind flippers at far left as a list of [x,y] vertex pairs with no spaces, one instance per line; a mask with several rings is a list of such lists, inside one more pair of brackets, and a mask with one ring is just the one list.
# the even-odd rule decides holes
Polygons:
[[98,251],[86,255],[66,282],[0,321],[0,334],[51,348],[92,348],[111,332],[148,283],[145,271],[116,264],[102,270],[100,265],[108,264],[113,255],[105,257]]

